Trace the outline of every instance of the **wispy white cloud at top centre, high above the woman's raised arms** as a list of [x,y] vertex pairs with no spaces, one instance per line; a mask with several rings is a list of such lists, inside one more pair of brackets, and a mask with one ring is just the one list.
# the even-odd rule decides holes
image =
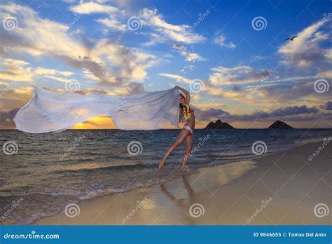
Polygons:
[[196,34],[195,32],[188,32],[189,25],[173,25],[163,20],[162,15],[158,14],[156,9],[151,10],[144,8],[139,15],[143,26],[151,27],[151,40],[146,45],[153,45],[155,43],[176,41],[179,43],[200,43],[205,41],[205,37]]

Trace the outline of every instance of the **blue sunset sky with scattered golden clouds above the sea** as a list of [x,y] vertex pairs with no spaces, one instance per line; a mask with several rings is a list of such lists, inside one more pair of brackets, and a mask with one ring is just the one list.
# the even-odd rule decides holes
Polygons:
[[[0,128],[15,128],[35,85],[83,95],[181,86],[197,128],[331,128],[331,12],[330,0],[0,0]],[[74,128],[115,126],[97,117]]]

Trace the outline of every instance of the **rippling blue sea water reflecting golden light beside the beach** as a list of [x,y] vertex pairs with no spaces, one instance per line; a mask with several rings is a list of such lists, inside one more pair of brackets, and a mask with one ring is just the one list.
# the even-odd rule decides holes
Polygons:
[[[18,145],[17,148],[14,145],[16,154],[3,154],[4,150],[11,154],[7,148],[1,151],[1,215],[7,212],[0,219],[1,224],[29,224],[40,217],[55,215],[68,203],[179,177],[183,174],[179,165],[184,144],[168,158],[162,171],[156,170],[179,131],[66,130],[28,134],[0,130],[1,147],[6,142]],[[331,137],[332,130],[204,129],[195,130],[194,134],[193,147],[198,149],[188,163],[193,171],[254,158],[251,146],[258,140],[265,142],[267,155]],[[129,153],[130,142],[137,147]]]

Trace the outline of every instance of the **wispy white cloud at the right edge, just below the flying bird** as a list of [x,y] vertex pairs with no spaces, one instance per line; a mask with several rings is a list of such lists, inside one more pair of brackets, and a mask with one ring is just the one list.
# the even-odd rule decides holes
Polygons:
[[296,65],[298,67],[308,67],[317,60],[325,62],[325,56],[328,60],[332,60],[332,49],[321,48],[320,43],[330,39],[330,33],[319,31],[325,24],[319,21],[298,32],[298,36],[294,41],[287,41],[282,45],[278,53],[282,56],[283,65]]

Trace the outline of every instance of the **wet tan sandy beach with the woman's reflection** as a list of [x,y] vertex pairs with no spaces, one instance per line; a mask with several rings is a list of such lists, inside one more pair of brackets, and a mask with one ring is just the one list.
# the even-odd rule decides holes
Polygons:
[[63,210],[34,224],[331,224],[332,143],[322,144],[81,201],[76,217]]

